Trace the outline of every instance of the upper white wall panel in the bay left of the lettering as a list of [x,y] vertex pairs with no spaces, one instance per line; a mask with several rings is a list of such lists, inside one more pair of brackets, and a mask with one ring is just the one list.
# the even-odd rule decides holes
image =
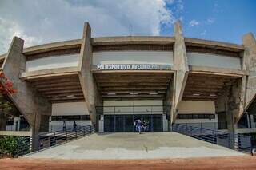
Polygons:
[[26,61],[26,72],[42,69],[58,69],[78,66],[79,54],[68,54],[62,56],[42,57]]

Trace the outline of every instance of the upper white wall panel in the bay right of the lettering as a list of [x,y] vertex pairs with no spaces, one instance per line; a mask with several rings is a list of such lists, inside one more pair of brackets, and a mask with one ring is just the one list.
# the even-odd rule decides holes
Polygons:
[[242,69],[241,59],[211,53],[186,53],[189,65]]

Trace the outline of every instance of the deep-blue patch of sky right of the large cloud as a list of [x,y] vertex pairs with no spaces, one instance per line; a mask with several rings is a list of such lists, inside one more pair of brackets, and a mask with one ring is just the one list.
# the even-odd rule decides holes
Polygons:
[[[242,43],[242,35],[256,34],[256,1],[254,0],[183,0],[183,10],[174,15],[182,18],[186,37]],[[167,5],[173,9],[173,4]],[[190,24],[191,21],[194,25]],[[161,34],[172,30],[162,26]]]

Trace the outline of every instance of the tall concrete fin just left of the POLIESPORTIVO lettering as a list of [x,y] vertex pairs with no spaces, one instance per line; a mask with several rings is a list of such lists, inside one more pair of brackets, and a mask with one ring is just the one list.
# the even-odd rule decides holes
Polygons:
[[82,92],[86,100],[86,107],[90,113],[90,119],[93,124],[96,124],[95,105],[98,105],[98,100],[100,100],[100,97],[98,95],[98,89],[94,81],[93,74],[90,72],[92,62],[93,53],[91,45],[91,29],[89,23],[85,22],[80,51],[79,80],[82,86]]

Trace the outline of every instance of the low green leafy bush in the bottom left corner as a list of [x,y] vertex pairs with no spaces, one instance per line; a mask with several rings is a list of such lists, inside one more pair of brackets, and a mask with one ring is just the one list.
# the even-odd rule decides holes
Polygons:
[[26,143],[26,137],[21,136],[1,136],[0,137],[0,154],[17,156],[19,153],[26,154],[30,146]]

